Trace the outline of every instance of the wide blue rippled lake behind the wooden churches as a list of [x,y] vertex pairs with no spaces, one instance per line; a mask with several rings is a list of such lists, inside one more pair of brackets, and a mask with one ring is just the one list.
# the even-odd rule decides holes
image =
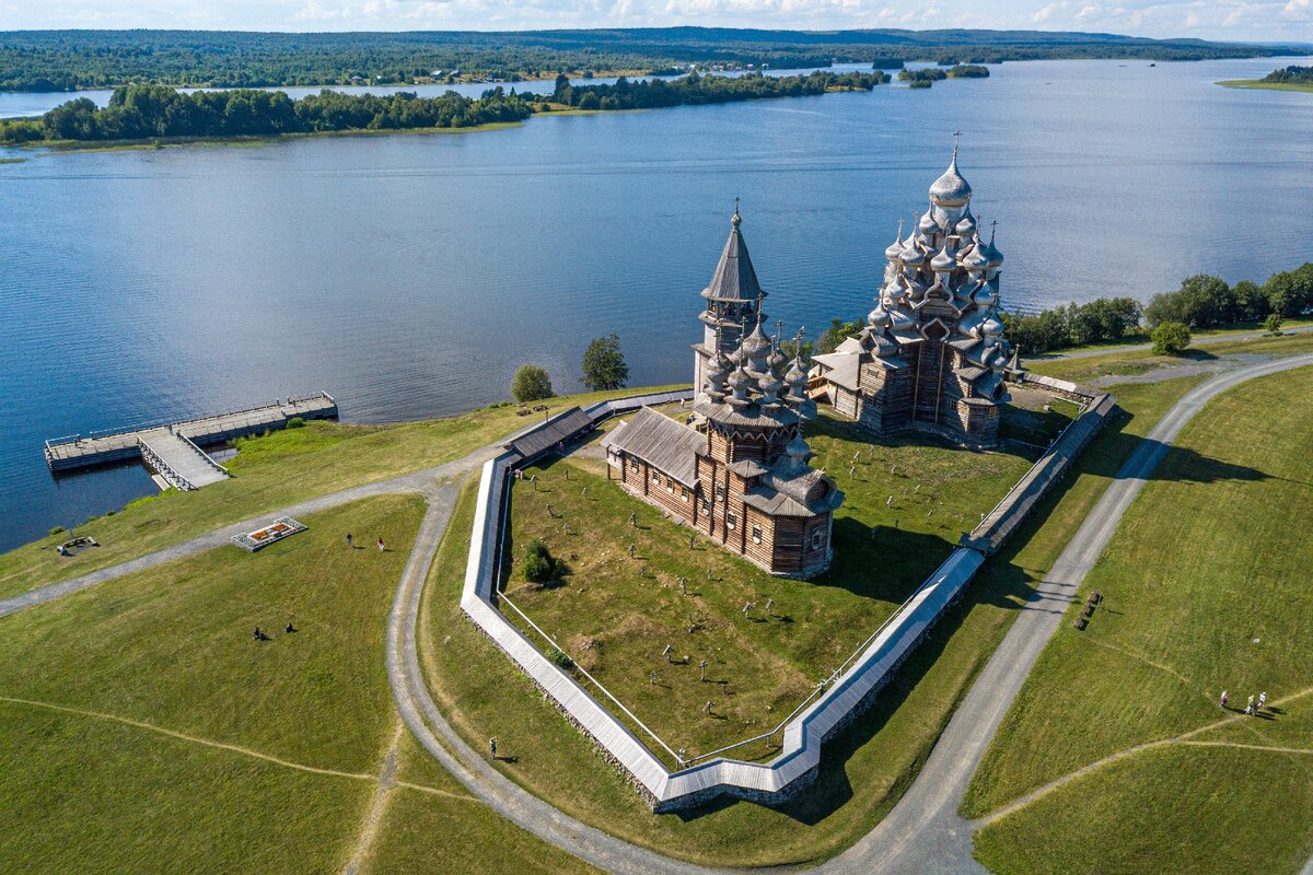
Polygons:
[[506,397],[524,362],[576,388],[609,331],[633,384],[688,379],[735,195],[772,319],[864,314],[957,129],[1006,306],[1262,281],[1313,260],[1313,94],[1212,83],[1285,63],[1031,62],[477,134],[3,153],[30,160],[0,164],[0,548],[154,488],[133,466],[54,480],[49,437],[318,388],[349,421],[442,416]]

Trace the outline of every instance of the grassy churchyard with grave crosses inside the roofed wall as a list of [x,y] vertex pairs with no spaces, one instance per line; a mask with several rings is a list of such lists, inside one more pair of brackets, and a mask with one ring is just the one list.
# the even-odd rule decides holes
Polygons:
[[[813,581],[772,577],[701,537],[691,548],[688,527],[574,458],[530,470],[536,488],[521,481],[513,489],[509,597],[674,749],[696,756],[776,725],[1031,464],[926,438],[872,446],[827,418],[810,434],[813,464],[847,496],[835,517],[835,567]],[[638,516],[637,529],[628,523],[630,513]],[[533,538],[566,560],[563,585],[524,579],[523,544]],[[680,594],[680,577],[689,581],[688,597]],[[767,600],[773,601],[769,614]],[[748,617],[746,602],[758,606]],[[545,644],[515,611],[506,613]],[[667,644],[674,664],[662,657]],[[706,682],[700,681],[702,660]],[[708,701],[714,703],[709,715],[701,712]],[[755,744],[734,756],[773,754]]]

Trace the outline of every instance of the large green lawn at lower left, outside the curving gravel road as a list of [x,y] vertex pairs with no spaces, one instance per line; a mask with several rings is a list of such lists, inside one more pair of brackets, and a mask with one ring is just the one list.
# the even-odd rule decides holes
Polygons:
[[[383,628],[420,514],[418,497],[365,500],[259,554],[225,547],[0,621],[0,868],[340,871],[399,725]],[[345,529],[393,550],[348,550]],[[414,786],[389,794],[362,872],[584,871],[404,741]]]

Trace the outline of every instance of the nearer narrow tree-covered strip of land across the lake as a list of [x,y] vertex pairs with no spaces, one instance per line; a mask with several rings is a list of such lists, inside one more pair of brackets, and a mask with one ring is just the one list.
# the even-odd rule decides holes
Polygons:
[[558,76],[550,97],[516,94],[500,85],[481,97],[446,92],[419,97],[347,94],[324,89],[291,100],[281,91],[235,88],[184,93],[168,85],[125,85],[114,89],[109,105],[97,108],[88,97],[56,106],[37,119],[0,122],[0,143],[41,140],[112,142],[179,138],[281,136],[331,131],[399,131],[467,129],[517,122],[534,112],[578,108],[584,110],[655,109],[684,104],[723,104],[771,97],[801,97],[830,91],[871,91],[889,81],[884,72],[806,76],[700,76],[672,81],[653,79],[613,85],[571,85]]

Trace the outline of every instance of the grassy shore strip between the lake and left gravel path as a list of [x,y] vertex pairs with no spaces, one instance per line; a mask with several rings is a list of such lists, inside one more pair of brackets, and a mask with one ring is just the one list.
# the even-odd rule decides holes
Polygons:
[[[635,390],[553,399],[551,411],[590,404]],[[314,496],[458,459],[529,425],[513,407],[484,408],[442,420],[389,426],[312,422],[243,441],[227,467],[232,479],[196,492],[163,492],[134,501],[113,516],[76,527],[102,546],[74,558],[50,537],[0,555],[0,598],[42,584],[143,556],[221,526]]]

